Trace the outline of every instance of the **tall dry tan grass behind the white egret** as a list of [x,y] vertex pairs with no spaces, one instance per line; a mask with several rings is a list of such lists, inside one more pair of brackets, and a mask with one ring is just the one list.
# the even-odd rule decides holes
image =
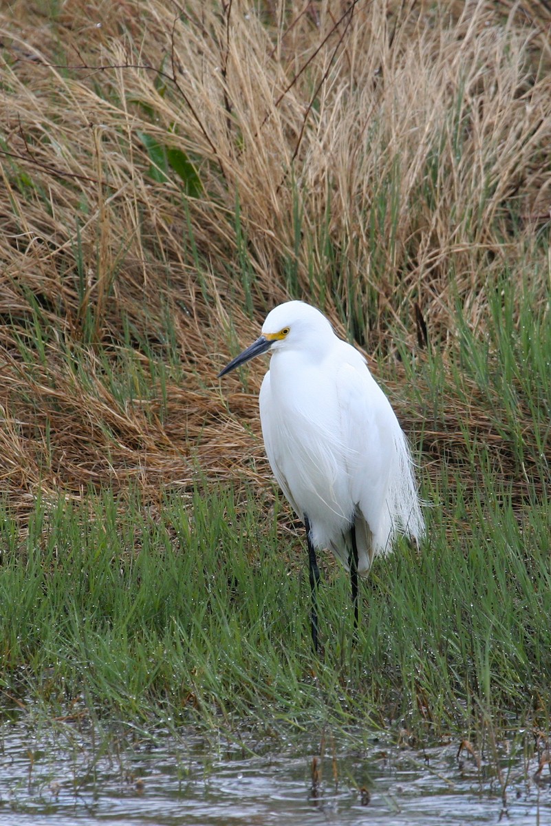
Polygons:
[[[28,6],[0,17],[14,506],[39,489],[265,477],[243,429],[258,433],[261,365],[248,393],[232,379],[222,396],[214,377],[291,294],[389,365],[396,344],[417,347],[416,304],[444,363],[458,303],[485,335],[505,270],[544,306],[543,4]],[[426,425],[436,459],[464,452],[464,421],[492,441],[493,401],[469,381]],[[407,389],[393,401],[421,430]]]

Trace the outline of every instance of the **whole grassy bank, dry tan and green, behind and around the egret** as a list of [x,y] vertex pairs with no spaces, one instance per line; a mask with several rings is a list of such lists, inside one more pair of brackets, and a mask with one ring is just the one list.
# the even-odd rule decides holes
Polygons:
[[[463,8],[0,18],[7,708],[549,728],[549,20]],[[365,349],[430,503],[356,648],[326,560],[323,662],[265,367],[214,378],[287,297]]]

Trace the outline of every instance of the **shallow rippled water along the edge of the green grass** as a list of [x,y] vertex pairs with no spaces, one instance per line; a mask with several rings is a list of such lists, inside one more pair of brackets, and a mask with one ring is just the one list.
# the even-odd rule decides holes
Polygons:
[[459,741],[292,737],[236,745],[181,729],[130,744],[68,724],[39,734],[2,724],[0,826],[551,823],[551,772],[537,774],[537,753],[505,744],[478,767],[466,748],[458,758]]

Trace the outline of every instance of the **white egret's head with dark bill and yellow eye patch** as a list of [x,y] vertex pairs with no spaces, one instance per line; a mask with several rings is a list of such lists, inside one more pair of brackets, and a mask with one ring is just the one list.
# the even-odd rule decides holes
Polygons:
[[323,313],[304,301],[285,301],[266,316],[261,336],[221,370],[218,377],[240,367],[268,350],[319,346],[327,335],[333,336],[332,326]]

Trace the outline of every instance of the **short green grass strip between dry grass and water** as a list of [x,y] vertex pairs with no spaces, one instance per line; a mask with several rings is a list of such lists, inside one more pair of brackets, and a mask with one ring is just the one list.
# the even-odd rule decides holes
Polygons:
[[[257,491],[90,495],[86,510],[38,503],[21,545],[2,520],[0,639],[5,695],[92,715],[233,727],[385,724],[464,731],[539,719],[551,700],[549,509],[518,515],[506,491],[464,509],[450,472],[430,540],[379,559],[351,643],[349,585],[319,593],[323,660],[308,630],[306,555]],[[300,563],[300,566],[297,565]]]

